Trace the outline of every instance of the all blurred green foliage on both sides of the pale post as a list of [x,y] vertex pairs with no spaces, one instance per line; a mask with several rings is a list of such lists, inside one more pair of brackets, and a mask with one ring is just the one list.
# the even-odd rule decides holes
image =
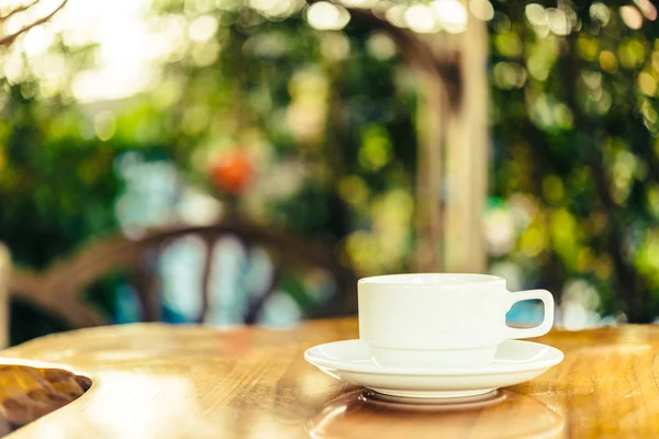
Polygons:
[[[599,314],[652,320],[655,7],[483,0],[469,8],[477,3],[491,12],[492,271]],[[160,0],[139,13],[133,27],[143,41],[131,40],[132,22],[105,40],[53,24],[47,49],[30,55],[38,38],[27,34],[0,54],[0,239],[18,263],[44,267],[122,227],[130,154],[170,161],[185,188],[226,202],[209,168],[242,150],[257,172],[238,200],[244,214],[338,239],[364,273],[412,268],[418,90],[386,33],[354,22],[321,32],[304,13],[283,20],[235,1]],[[142,58],[131,58],[127,48],[137,46]],[[136,90],[112,97],[110,77],[88,80],[123,57],[144,61],[142,76],[116,79]],[[175,211],[150,225],[180,222]]]

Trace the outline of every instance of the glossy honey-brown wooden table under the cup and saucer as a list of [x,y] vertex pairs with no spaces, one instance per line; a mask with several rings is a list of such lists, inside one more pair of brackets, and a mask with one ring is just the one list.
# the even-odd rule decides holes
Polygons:
[[[142,324],[37,339],[5,350],[4,362],[59,363],[88,374],[93,384],[78,399],[10,436],[659,437],[659,327],[555,331],[541,341],[566,353],[559,367],[467,405],[382,401],[326,376],[302,358],[316,344],[356,336],[357,322],[347,318],[292,330]],[[4,409],[3,383],[11,373],[0,369]],[[23,381],[25,394],[41,385]]]

